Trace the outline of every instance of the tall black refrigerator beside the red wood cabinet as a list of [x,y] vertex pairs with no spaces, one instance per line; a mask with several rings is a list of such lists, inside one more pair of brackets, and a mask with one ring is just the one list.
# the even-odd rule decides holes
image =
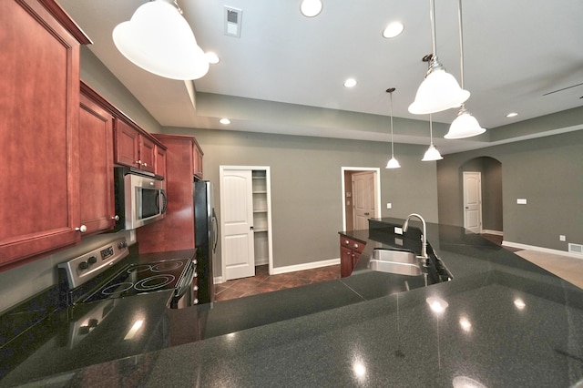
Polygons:
[[212,265],[219,239],[219,222],[212,194],[210,181],[194,179],[194,245],[197,248],[199,303],[215,299]]

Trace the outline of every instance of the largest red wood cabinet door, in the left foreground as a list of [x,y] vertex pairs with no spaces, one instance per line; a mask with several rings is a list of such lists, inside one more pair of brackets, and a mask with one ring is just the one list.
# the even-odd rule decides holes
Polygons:
[[0,2],[0,26],[4,265],[80,239],[79,43],[33,0]]

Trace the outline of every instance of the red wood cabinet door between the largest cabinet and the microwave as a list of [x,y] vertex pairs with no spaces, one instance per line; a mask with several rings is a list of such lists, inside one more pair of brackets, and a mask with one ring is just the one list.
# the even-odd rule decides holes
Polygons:
[[113,117],[81,96],[79,168],[81,224],[86,233],[114,227]]

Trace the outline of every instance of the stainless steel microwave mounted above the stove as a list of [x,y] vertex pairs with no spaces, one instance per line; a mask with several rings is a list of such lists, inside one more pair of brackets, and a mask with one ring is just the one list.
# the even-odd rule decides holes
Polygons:
[[116,230],[134,230],[166,215],[164,179],[135,168],[115,168]]

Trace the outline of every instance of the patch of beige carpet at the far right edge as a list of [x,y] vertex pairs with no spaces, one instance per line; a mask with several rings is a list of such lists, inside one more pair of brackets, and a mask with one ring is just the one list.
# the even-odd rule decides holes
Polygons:
[[518,250],[515,254],[583,289],[583,258],[576,259],[537,250]]

